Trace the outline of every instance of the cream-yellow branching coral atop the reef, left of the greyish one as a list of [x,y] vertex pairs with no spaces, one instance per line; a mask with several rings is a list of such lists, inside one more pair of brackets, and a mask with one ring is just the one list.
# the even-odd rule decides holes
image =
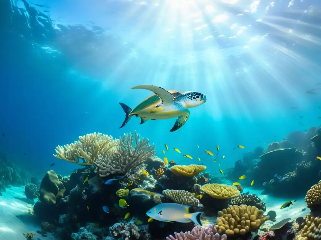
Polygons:
[[[119,140],[112,136],[98,132],[80,136],[78,141],[56,147],[54,156],[60,160],[79,165],[92,165],[93,160],[102,153],[108,153],[112,148],[119,146]],[[79,158],[82,162],[79,162]]]

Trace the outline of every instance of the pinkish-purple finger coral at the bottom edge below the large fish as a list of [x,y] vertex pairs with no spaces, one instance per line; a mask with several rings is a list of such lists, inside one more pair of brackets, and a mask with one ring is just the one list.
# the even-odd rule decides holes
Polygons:
[[223,234],[220,236],[214,225],[209,225],[208,227],[201,227],[196,225],[192,231],[188,232],[175,232],[175,237],[169,235],[166,240],[227,240],[227,236]]

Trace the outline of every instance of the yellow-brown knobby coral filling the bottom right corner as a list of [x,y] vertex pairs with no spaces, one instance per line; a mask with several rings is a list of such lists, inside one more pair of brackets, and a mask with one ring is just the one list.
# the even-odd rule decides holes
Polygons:
[[314,240],[320,239],[321,218],[314,218],[311,214],[307,214],[304,227],[299,231],[295,240]]

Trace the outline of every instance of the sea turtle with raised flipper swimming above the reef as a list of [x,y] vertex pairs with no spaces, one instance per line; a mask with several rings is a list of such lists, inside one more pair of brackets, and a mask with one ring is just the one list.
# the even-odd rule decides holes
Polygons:
[[139,85],[131,89],[146,89],[155,94],[140,102],[134,109],[120,102],[120,106],[126,113],[125,120],[120,128],[124,127],[133,115],[141,118],[140,124],[148,119],[158,120],[178,117],[172,129],[169,130],[169,132],[174,132],[186,123],[189,117],[187,108],[193,108],[206,102],[206,96],[199,92],[166,91],[164,88],[154,85]]

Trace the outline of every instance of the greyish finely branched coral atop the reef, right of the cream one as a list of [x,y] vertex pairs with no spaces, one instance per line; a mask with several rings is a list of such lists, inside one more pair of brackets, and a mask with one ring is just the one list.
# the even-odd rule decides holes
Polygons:
[[95,172],[100,177],[106,177],[109,174],[126,173],[154,154],[154,144],[150,146],[147,138],[141,138],[140,134],[134,131],[134,140],[131,133],[124,134],[120,139],[119,147],[109,153],[100,154],[92,164],[96,167]]

